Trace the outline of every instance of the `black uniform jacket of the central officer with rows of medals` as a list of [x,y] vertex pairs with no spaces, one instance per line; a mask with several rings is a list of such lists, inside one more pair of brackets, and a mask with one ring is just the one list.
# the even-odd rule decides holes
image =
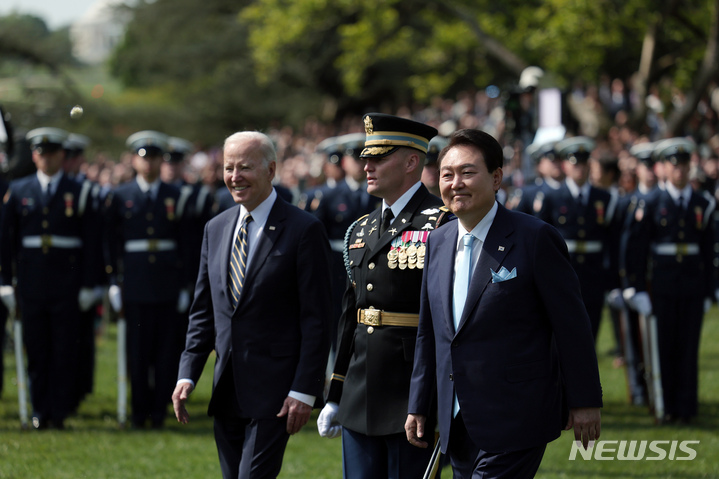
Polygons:
[[[328,401],[339,403],[339,422],[368,436],[404,431],[407,419],[417,317],[414,327],[358,323],[358,310],[419,314],[422,267],[388,258],[404,238],[424,243],[429,231],[450,215],[439,198],[421,186],[390,229],[379,235],[381,208],[348,230],[350,273],[338,328],[338,350]],[[412,233],[414,232],[414,234]],[[422,235],[422,233],[425,233]],[[419,253],[418,253],[419,254]],[[384,318],[384,314],[382,316]],[[380,319],[381,320],[381,319]]]

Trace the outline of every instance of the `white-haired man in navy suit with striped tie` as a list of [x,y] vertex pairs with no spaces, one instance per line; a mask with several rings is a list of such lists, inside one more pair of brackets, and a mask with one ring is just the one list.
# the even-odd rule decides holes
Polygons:
[[225,140],[225,184],[239,205],[205,227],[172,395],[186,423],[185,401],[215,350],[208,413],[226,479],[276,477],[289,435],[307,423],[324,387],[329,242],[319,220],[277,196],[275,168],[266,135]]

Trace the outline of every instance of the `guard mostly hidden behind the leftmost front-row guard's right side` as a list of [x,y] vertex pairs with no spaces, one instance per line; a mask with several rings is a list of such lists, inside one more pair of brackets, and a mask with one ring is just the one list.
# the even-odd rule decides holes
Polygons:
[[[100,212],[100,185],[87,179],[82,171],[85,163],[85,150],[90,144],[90,139],[85,135],[77,133],[68,134],[67,140],[63,143],[65,160],[62,168],[68,178],[72,178],[80,184],[83,191],[83,198],[87,198],[85,209],[92,209],[93,217],[98,220],[96,241],[102,240],[102,225],[99,224]],[[89,195],[87,192],[89,191]],[[96,307],[102,302],[103,285],[106,280],[102,248],[92,249],[94,257],[87,256],[87,260],[93,265],[95,280],[93,283],[94,296],[80,311],[80,335],[78,337],[78,380],[77,380],[77,406],[92,392],[95,375],[95,319],[97,318]],[[77,407],[76,406],[76,407]]]

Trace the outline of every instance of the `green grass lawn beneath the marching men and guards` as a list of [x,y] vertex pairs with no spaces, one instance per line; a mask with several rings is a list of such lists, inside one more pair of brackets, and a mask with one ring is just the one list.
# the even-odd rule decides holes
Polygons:
[[[65,431],[21,431],[14,358],[5,352],[5,387],[0,399],[0,478],[206,478],[220,477],[212,421],[206,408],[212,378],[208,363],[188,405],[190,424],[168,418],[162,431],[121,430],[116,422],[115,330],[98,339],[95,392]],[[700,360],[699,417],[692,426],[657,426],[646,408],[630,406],[624,371],[612,366],[611,326],[602,323],[598,356],[604,389],[602,439],[700,441],[693,461],[569,460],[573,435],[564,432],[547,448],[538,478],[719,478],[719,311],[704,322]],[[280,477],[340,478],[340,440],[320,438],[313,413],[293,436]],[[669,446],[664,446],[668,450]],[[679,455],[679,454],[678,454]],[[451,478],[445,469],[443,477]]]

